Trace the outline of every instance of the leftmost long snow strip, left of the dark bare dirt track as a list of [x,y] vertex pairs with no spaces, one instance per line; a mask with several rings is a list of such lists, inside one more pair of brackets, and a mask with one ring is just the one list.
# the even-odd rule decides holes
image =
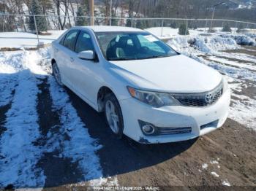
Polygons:
[[[21,55],[23,66],[21,69],[18,67],[20,71],[16,73],[18,86],[12,98],[12,107],[7,112],[4,124],[7,130],[0,140],[0,187],[8,184],[42,187],[45,182],[42,169],[37,168],[41,149],[33,144],[39,138],[37,78],[33,74],[34,68],[29,68],[34,63],[34,55],[25,52],[24,55],[18,53],[13,56]],[[12,64],[17,65],[20,66],[19,63]]]

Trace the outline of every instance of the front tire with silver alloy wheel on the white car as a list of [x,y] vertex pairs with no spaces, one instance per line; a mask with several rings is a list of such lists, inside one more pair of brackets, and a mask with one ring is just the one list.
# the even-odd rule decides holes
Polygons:
[[105,95],[105,119],[118,139],[121,139],[124,131],[124,120],[121,113],[121,107],[116,96],[113,93]]

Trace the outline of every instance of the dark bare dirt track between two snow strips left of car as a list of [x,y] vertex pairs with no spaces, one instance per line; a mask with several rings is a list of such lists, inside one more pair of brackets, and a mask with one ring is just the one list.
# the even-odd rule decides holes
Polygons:
[[60,148],[51,152],[45,152],[37,164],[39,168],[43,169],[46,176],[45,187],[55,187],[79,182],[83,178],[83,174],[78,168],[78,163],[73,163],[71,157],[60,155],[61,146],[63,146],[62,141],[68,140],[69,137],[67,137],[67,133],[60,131],[62,124],[59,119],[59,113],[61,111],[53,110],[53,102],[47,81],[48,78],[42,79],[42,83],[38,85],[40,93],[38,93],[37,112],[39,114],[39,130],[42,137],[34,144],[40,147],[50,147],[51,145],[54,147],[54,144],[59,144],[60,146]]

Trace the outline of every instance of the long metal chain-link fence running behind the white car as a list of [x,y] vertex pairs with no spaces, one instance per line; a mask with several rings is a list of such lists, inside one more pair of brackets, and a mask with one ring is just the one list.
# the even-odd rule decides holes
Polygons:
[[[57,15],[11,15],[0,13],[1,32],[30,32],[39,35],[48,34],[50,31],[59,31],[72,26],[89,26],[91,17],[57,16]],[[111,22],[110,22],[111,20]],[[192,19],[192,18],[129,18],[129,17],[94,17],[95,26],[130,26],[135,28],[159,27],[159,36],[163,36],[163,30],[168,28],[179,28],[183,25],[187,30],[203,32],[214,32],[215,28],[228,26],[231,32],[243,33],[249,29],[256,29],[256,23],[227,20],[227,19]],[[49,31],[49,32],[48,32]],[[256,30],[253,30],[255,33]]]

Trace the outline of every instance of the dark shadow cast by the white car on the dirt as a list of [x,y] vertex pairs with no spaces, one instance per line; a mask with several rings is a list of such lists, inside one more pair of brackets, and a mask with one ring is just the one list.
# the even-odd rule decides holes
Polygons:
[[71,90],[67,89],[67,93],[78,116],[86,124],[89,134],[103,146],[97,155],[105,177],[125,174],[170,160],[192,147],[197,140],[169,144],[140,144],[127,136],[116,139],[105,122],[104,114],[96,112]]

